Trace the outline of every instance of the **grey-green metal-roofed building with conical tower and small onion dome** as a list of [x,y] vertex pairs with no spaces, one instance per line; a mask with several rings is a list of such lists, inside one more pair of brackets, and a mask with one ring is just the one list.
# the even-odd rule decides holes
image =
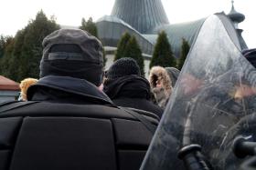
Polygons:
[[[219,17],[225,27],[236,29],[237,34],[232,36],[239,41],[242,50],[246,49],[247,45],[241,36],[242,30],[239,29],[238,24],[245,19],[245,16],[235,10],[233,3],[232,1],[229,14],[221,13]],[[112,14],[101,17],[96,25],[107,54],[113,55],[123,33],[134,35],[144,53],[145,72],[147,72],[159,32],[165,31],[175,56],[179,57],[182,38],[191,45],[205,20],[206,18],[201,18],[197,21],[170,25],[161,0],[115,0]],[[112,62],[112,57],[108,58],[109,62]]]

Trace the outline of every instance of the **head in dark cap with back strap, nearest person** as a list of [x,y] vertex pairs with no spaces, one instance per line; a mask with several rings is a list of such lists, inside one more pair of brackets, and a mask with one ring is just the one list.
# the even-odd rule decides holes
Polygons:
[[43,41],[40,77],[70,76],[101,85],[103,55],[101,42],[80,29],[59,29]]

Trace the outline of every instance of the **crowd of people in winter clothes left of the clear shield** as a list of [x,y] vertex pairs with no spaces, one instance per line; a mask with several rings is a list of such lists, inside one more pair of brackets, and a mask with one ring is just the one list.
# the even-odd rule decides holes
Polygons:
[[0,107],[16,141],[3,139],[13,154],[0,167],[139,169],[179,70],[156,65],[147,80],[125,56],[105,71],[101,42],[80,29],[57,30],[42,45],[40,78],[20,84],[24,102]]

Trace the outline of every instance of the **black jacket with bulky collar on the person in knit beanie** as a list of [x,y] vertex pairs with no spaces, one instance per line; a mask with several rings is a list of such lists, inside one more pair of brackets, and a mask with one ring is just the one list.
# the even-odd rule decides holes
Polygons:
[[114,80],[106,80],[104,92],[115,105],[144,110],[159,117],[163,114],[163,109],[150,101],[149,82],[139,75],[125,75]]

